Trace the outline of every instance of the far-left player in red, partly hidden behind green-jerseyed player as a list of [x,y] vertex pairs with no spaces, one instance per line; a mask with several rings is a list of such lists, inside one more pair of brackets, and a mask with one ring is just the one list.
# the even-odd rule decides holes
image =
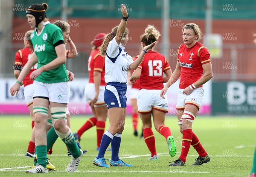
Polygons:
[[[30,35],[32,34],[33,30],[27,31],[24,36],[24,45],[23,49],[18,50],[15,54],[15,70],[14,76],[17,79],[20,75],[21,68],[25,66],[28,62],[31,53],[33,52],[33,45],[30,41]],[[29,114],[32,119],[32,135],[29,141],[29,147],[26,151],[26,157],[35,157],[35,133],[33,133],[33,129],[35,126],[35,117],[33,113],[33,81],[30,80],[29,75],[37,69],[37,64],[35,64],[26,77],[23,80],[24,85],[24,97],[26,100],[26,104],[29,108]]]

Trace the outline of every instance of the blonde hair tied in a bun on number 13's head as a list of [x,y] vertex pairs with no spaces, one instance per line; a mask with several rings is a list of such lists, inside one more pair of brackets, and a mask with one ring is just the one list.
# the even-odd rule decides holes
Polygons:
[[148,25],[145,29],[145,33],[140,36],[140,41],[147,46],[157,41],[159,36],[160,32],[153,25]]

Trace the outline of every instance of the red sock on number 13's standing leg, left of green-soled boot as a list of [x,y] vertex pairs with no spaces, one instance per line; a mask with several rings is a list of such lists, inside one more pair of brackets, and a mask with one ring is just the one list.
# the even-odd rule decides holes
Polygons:
[[148,146],[148,150],[151,152],[151,157],[157,154],[156,151],[156,139],[154,138],[154,133],[151,128],[145,128],[143,130],[144,140]]

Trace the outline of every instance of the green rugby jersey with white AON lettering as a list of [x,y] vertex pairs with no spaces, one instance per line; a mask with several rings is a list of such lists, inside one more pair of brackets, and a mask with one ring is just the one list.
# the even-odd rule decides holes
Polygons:
[[[34,46],[34,52],[38,57],[38,68],[50,63],[57,54],[55,52],[54,44],[63,39],[62,31],[58,26],[44,22],[44,28],[40,34],[34,31],[30,36],[31,42]],[[65,64],[59,67],[45,71],[39,75],[35,81],[43,83],[57,83],[68,81],[67,70]]]

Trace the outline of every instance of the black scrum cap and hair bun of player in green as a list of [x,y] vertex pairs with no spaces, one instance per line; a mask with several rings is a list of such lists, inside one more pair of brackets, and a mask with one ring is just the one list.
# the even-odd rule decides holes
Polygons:
[[33,15],[35,17],[35,27],[46,18],[45,11],[48,9],[47,3],[32,4],[26,11],[26,14]]

